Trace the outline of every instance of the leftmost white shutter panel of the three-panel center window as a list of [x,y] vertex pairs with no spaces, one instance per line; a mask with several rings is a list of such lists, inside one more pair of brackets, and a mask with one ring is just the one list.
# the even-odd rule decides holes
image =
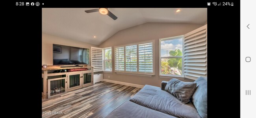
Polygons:
[[115,71],[124,71],[124,47],[115,48]]

